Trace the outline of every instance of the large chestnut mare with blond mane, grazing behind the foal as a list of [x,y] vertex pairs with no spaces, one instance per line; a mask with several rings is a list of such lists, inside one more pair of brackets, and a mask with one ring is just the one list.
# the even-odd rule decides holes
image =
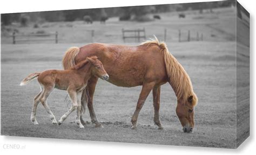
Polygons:
[[[192,132],[194,127],[194,106],[198,99],[193,91],[190,77],[183,66],[168,51],[164,42],[158,39],[146,41],[138,46],[92,43],[81,48],[71,48],[63,58],[64,69],[72,68],[88,56],[97,56],[109,74],[108,82],[123,87],[142,85],[136,110],[131,119],[131,129],[136,129],[140,109],[149,93],[153,92],[154,123],[163,129],[159,119],[160,86],[169,82],[177,96],[176,113],[184,132]],[[86,86],[88,109],[92,123],[102,126],[93,110],[93,93],[97,77],[91,77]],[[82,106],[86,105],[82,100]],[[82,119],[82,117],[81,117]],[[83,122],[83,121],[82,121]]]

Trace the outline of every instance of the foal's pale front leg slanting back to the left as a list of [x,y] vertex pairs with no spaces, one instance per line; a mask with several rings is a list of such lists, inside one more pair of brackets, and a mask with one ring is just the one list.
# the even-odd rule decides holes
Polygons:
[[72,102],[72,105],[71,105],[71,108],[69,109],[69,111],[66,112],[65,114],[63,114],[63,116],[59,119],[58,125],[62,124],[64,122],[64,120],[66,118],[68,118],[70,113],[73,112],[74,110],[76,110],[77,106],[78,106],[76,90],[68,90],[68,93],[69,93],[69,97],[70,97],[70,100]]

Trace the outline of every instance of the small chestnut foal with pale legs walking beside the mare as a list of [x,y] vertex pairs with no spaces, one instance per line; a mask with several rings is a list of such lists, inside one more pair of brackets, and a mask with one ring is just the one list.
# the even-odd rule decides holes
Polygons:
[[32,73],[28,77],[24,78],[20,84],[21,86],[28,84],[33,78],[36,77],[38,77],[37,80],[41,85],[41,92],[34,99],[31,112],[31,122],[35,125],[38,124],[36,120],[36,109],[38,103],[41,102],[48,112],[52,120],[52,124],[57,124],[55,116],[46,103],[50,93],[54,88],[56,88],[59,90],[67,90],[72,102],[70,110],[60,118],[58,124],[62,124],[69,114],[77,109],[76,124],[80,128],[84,128],[80,121],[80,115],[82,115],[82,90],[86,87],[88,80],[92,76],[99,77],[103,80],[109,79],[109,75],[107,75],[102,62],[100,62],[96,56],[87,57],[85,60],[68,70],[46,70],[43,72]]

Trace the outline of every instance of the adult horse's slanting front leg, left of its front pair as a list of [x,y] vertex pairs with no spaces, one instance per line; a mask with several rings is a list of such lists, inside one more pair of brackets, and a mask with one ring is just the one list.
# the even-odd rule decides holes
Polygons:
[[134,111],[133,116],[132,116],[132,120],[131,120],[132,127],[131,127],[131,129],[136,129],[137,120],[138,120],[138,116],[139,116],[139,111],[140,111],[140,109],[142,109],[143,104],[145,103],[145,100],[146,100],[147,96],[149,95],[150,91],[152,90],[154,84],[155,84],[154,82],[143,83],[142,91],[140,92],[140,95],[139,95],[136,110]]

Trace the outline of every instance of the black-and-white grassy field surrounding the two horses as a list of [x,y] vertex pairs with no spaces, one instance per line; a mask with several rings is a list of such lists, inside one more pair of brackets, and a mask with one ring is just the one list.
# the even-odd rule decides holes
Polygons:
[[[118,21],[111,17],[106,24],[94,21],[85,24],[74,22],[45,22],[35,29],[33,25],[17,25],[5,28],[19,32],[44,30],[59,33],[59,43],[32,42],[11,44],[12,38],[3,35],[2,29],[2,135],[65,138],[128,143],[164,145],[189,145],[206,147],[236,146],[236,68],[235,68],[235,8],[217,8],[213,12],[199,14],[198,10],[183,11],[186,18],[179,18],[179,12],[159,13],[161,19],[149,22]],[[153,16],[149,14],[150,16]],[[72,25],[72,26],[71,26]],[[44,107],[39,104],[35,126],[30,122],[33,97],[39,92],[36,80],[26,86],[19,86],[21,80],[36,71],[62,69],[61,60],[66,49],[91,42],[86,30],[95,30],[93,42],[138,45],[134,39],[122,40],[122,28],[145,28],[146,38],[156,35],[164,39],[169,51],[184,66],[198,95],[195,109],[195,129],[191,134],[183,133],[176,115],[176,96],[167,83],[161,87],[160,120],[164,130],[157,130],[153,124],[153,100],[150,95],[139,114],[138,129],[131,130],[132,116],[141,86],[125,88],[99,80],[94,107],[98,120],[104,128],[95,128],[90,123],[89,112],[83,118],[85,129],[78,129],[73,123],[75,112],[60,126],[51,124]],[[196,32],[204,34],[204,41],[178,42],[178,30],[188,30],[191,37]],[[143,39],[142,39],[143,41]],[[247,50],[247,46],[240,46]],[[241,59],[247,61],[247,57]],[[246,85],[246,84],[245,84]],[[55,90],[48,104],[58,120],[70,105],[64,102],[65,91]]]

